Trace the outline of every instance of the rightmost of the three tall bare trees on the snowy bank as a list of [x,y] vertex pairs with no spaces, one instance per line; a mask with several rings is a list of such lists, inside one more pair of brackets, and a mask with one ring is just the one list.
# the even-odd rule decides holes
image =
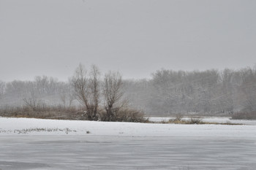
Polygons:
[[103,119],[106,121],[115,120],[118,109],[122,107],[120,101],[124,93],[121,91],[121,85],[122,79],[119,72],[108,72],[108,74],[105,74],[103,94],[106,115]]

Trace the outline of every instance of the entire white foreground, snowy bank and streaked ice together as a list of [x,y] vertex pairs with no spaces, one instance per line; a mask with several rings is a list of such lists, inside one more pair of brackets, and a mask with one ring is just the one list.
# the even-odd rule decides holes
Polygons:
[[256,169],[256,125],[0,117],[0,169]]

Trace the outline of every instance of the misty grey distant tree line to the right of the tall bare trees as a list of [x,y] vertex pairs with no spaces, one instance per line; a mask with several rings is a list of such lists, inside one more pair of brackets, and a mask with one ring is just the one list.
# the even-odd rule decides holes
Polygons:
[[173,71],[127,81],[127,95],[149,115],[233,114],[256,111],[256,68]]

